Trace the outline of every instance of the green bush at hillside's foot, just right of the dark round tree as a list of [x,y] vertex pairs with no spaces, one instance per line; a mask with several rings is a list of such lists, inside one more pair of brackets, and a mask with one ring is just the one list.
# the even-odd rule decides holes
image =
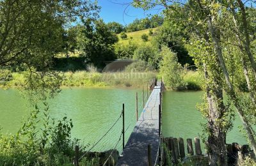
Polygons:
[[118,59],[132,59],[134,51],[137,49],[138,45],[135,42],[129,40],[129,44],[124,45],[116,43],[115,54]]

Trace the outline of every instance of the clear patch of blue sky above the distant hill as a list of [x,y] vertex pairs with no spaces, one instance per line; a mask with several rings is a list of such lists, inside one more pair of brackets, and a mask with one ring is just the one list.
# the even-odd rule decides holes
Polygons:
[[[161,13],[159,10],[143,11],[141,8],[134,8],[131,5],[127,6],[132,0],[98,0],[98,5],[101,6],[100,17],[104,22],[119,22],[126,25],[135,19],[142,19],[149,14]],[[126,8],[126,10],[125,10]],[[125,14],[124,11],[126,11]]]

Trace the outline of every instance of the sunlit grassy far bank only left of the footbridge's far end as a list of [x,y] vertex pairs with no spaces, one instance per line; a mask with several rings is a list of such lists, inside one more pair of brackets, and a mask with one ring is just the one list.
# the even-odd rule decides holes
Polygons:
[[[67,87],[141,87],[154,78],[153,72],[64,72],[61,86]],[[0,87],[17,87],[25,84],[24,73],[9,73],[8,79],[0,81]]]

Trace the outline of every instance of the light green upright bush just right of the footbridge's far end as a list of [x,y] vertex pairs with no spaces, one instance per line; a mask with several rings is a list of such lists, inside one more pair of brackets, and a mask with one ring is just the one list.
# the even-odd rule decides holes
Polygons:
[[184,87],[183,69],[178,63],[177,55],[168,47],[162,47],[162,49],[160,55],[163,57],[163,61],[160,63],[160,73],[163,76],[164,84],[173,90]]

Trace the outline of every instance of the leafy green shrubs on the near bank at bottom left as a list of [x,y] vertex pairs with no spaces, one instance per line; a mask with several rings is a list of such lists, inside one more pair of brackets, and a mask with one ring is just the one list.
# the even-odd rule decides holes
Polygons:
[[35,107],[16,135],[0,135],[0,165],[72,165],[74,146],[79,144],[70,139],[72,121],[63,117],[55,124],[49,105],[44,105],[43,128],[39,128],[40,110]]

